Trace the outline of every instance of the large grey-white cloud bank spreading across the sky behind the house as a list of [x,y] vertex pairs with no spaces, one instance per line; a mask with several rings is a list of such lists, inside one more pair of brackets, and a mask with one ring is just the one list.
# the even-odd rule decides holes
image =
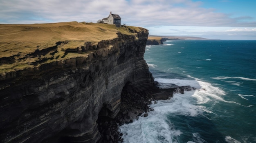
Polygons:
[[0,23],[96,22],[112,11],[122,22],[135,26],[256,25],[255,21],[244,21],[249,17],[230,18],[201,4],[192,0],[4,0],[0,3]]

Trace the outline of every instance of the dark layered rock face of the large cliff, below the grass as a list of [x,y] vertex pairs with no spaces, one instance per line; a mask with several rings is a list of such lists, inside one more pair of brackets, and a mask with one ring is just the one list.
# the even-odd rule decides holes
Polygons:
[[62,136],[70,142],[95,143],[100,138],[96,121],[103,106],[105,114],[114,118],[126,84],[136,90],[153,87],[143,58],[148,31],[130,32],[137,36],[117,33],[117,38],[103,40],[97,48],[85,44],[81,51],[88,52],[87,57],[2,75],[0,140],[57,142]]

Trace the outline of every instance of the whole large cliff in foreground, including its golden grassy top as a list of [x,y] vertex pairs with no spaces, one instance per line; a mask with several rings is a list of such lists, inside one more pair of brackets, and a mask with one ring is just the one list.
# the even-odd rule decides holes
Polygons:
[[0,29],[2,143],[95,143],[99,112],[115,118],[123,88],[153,87],[146,29],[78,22]]

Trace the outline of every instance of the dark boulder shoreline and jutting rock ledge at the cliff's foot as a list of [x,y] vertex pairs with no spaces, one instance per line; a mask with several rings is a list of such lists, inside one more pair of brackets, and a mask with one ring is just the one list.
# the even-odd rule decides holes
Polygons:
[[156,103],[156,99],[170,99],[174,93],[184,94],[184,91],[197,90],[190,86],[161,89],[157,85],[155,82],[155,88],[145,91],[124,89],[121,93],[119,114],[114,119],[99,117],[97,120],[98,130],[101,133],[101,138],[97,143],[122,143],[123,134],[119,132],[119,126],[132,123],[139,117],[147,117],[148,112],[154,110],[149,105]]

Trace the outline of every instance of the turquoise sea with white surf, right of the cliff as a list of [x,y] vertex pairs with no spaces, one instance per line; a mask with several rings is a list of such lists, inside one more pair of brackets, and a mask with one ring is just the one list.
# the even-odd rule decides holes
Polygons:
[[255,40],[168,40],[144,59],[162,88],[197,90],[122,125],[124,143],[256,143]]

